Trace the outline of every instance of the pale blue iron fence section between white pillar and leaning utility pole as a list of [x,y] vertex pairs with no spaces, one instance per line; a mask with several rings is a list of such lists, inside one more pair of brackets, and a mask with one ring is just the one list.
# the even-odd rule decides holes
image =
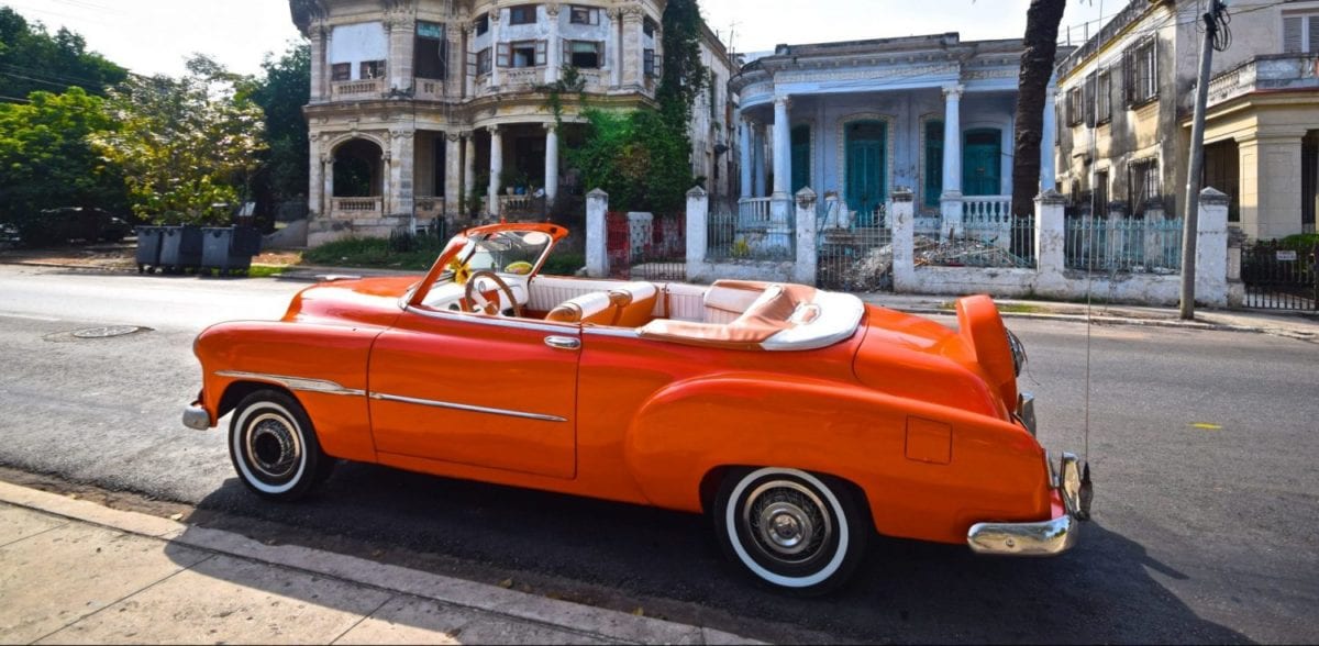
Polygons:
[[1067,216],[1063,256],[1067,269],[1177,274],[1182,272],[1182,219]]

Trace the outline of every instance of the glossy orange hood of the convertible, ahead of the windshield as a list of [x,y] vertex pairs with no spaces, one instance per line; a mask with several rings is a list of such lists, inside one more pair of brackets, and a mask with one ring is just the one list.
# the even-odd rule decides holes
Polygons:
[[402,297],[421,279],[421,276],[392,276],[322,282],[294,295],[284,320],[389,326],[402,311]]

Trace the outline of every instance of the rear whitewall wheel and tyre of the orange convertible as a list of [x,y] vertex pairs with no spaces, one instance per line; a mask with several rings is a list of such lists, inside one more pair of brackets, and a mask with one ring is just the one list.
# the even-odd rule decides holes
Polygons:
[[813,596],[847,583],[869,527],[851,488],[798,469],[736,469],[714,508],[724,552],[758,580]]

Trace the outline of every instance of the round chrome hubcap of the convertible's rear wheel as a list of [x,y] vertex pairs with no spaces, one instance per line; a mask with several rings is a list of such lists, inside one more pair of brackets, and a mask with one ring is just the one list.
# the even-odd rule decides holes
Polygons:
[[824,504],[798,483],[769,481],[745,500],[743,527],[764,556],[782,563],[802,563],[816,556],[834,535],[834,523],[824,514]]

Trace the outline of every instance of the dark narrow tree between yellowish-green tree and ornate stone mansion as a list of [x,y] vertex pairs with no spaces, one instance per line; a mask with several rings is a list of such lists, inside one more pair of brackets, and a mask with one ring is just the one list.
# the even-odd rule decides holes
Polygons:
[[239,99],[264,113],[269,148],[260,156],[252,178],[257,214],[264,218],[285,202],[303,202],[307,194],[307,123],[302,107],[311,100],[311,51],[306,42],[291,44],[280,57],[268,55],[262,74],[240,83]]

